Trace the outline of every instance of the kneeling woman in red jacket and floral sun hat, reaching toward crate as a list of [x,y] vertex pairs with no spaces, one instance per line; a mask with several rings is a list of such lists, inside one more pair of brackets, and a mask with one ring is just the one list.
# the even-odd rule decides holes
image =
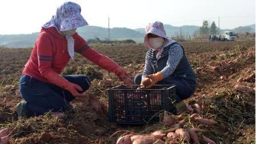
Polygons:
[[61,76],[61,71],[77,52],[103,69],[115,73],[128,85],[132,80],[126,71],[105,55],[92,49],[75,30],[88,25],[77,3],[65,2],[42,26],[29,61],[19,81],[24,101],[17,105],[18,117],[41,115],[46,111],[71,109],[70,101],[90,87],[86,75]]

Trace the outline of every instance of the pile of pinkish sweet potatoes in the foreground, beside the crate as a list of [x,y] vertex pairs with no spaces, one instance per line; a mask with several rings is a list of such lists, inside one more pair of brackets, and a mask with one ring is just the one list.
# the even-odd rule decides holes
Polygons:
[[[163,114],[162,125],[168,127],[167,130],[156,130],[150,134],[128,134],[118,138],[117,144],[150,144],[150,143],[200,143],[199,137],[206,143],[215,143],[205,137],[202,133],[205,130],[197,127],[183,128],[186,121],[200,123],[207,126],[216,125],[217,122],[201,117],[202,110],[205,109],[205,101],[188,106],[187,114],[173,115],[165,112]],[[198,133],[202,132],[199,136]]]

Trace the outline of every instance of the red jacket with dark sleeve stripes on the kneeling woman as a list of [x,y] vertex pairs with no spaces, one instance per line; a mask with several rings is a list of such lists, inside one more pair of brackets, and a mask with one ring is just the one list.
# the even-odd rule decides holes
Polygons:
[[[72,37],[75,42],[75,52],[82,54],[83,57],[107,71],[115,73],[115,70],[119,68],[117,63],[87,45],[85,39],[78,33],[75,33]],[[69,59],[66,38],[59,34],[55,27],[42,28],[22,73],[37,78],[39,81],[54,83],[65,88],[69,82],[59,74],[61,74]]]

